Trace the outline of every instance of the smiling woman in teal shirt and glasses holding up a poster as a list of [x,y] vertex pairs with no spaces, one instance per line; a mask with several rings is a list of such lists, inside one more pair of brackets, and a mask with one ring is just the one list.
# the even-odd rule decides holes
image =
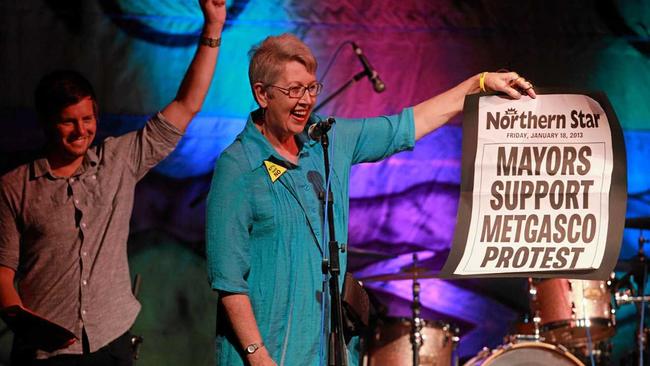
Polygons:
[[[295,36],[264,40],[249,67],[260,108],[216,163],[206,250],[210,284],[220,295],[220,365],[318,365],[324,357],[326,247],[318,194],[325,174],[322,148],[307,136],[309,125],[320,120],[311,115],[322,88],[316,67]],[[481,90],[535,97],[532,85],[516,73],[486,72],[397,115],[337,119],[328,135],[339,242],[347,241],[352,164],[412,149],[415,140],[458,114],[467,94]],[[345,267],[342,254],[342,273]]]

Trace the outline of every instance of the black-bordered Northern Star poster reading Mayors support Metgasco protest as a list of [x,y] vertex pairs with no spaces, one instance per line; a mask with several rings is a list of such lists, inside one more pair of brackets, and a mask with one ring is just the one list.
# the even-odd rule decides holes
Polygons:
[[603,93],[468,96],[458,220],[441,277],[605,279],[626,199],[623,135]]

